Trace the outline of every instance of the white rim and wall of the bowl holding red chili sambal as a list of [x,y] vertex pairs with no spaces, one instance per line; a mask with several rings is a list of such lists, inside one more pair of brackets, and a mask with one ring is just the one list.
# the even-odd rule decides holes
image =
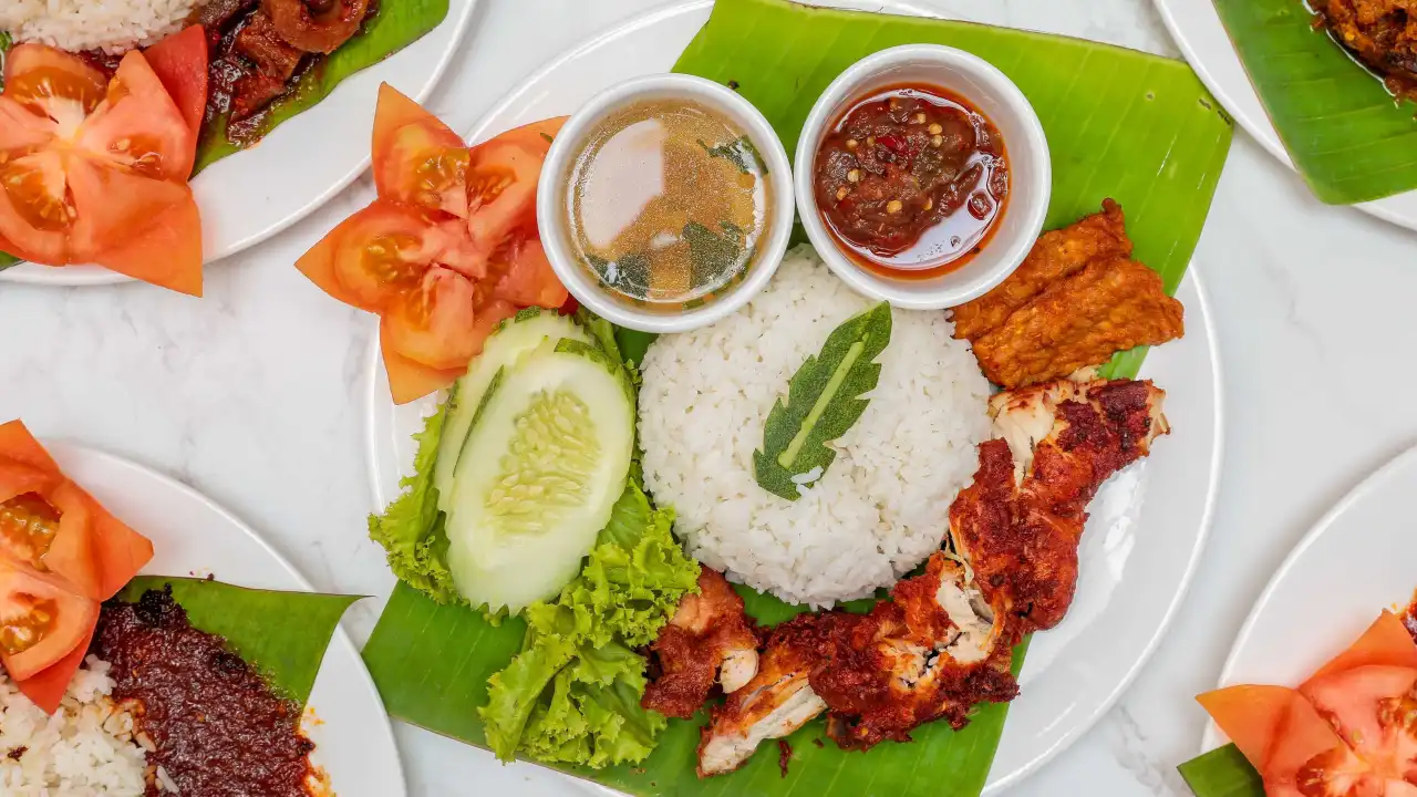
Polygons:
[[[901,84],[935,85],[969,101],[1003,136],[1009,203],[988,245],[955,271],[927,279],[893,279],[847,257],[822,220],[813,190],[816,150],[852,105]],[[1053,163],[1043,125],[1019,87],[988,61],[952,47],[907,44],[862,58],[818,98],[798,139],[796,204],[808,238],[826,265],[873,299],[908,309],[944,309],[989,292],[1023,262],[1049,211]]]

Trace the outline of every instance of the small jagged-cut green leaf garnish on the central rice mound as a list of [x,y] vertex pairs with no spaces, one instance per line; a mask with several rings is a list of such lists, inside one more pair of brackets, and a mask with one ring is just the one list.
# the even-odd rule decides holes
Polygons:
[[[762,448],[752,452],[752,469],[762,489],[796,501],[798,486],[811,486],[832,467],[836,451],[828,442],[862,418],[881,366],[876,357],[890,343],[890,302],[863,311],[832,330],[822,353],[808,357],[792,374],[762,428]],[[794,482],[794,476],[811,476]]]

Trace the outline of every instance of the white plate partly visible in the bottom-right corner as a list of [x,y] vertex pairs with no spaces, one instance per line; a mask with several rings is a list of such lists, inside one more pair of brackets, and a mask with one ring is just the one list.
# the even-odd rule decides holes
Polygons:
[[[1417,448],[1343,496],[1289,553],[1230,650],[1220,686],[1302,684],[1417,589]],[[1210,723],[1203,750],[1224,742]]]

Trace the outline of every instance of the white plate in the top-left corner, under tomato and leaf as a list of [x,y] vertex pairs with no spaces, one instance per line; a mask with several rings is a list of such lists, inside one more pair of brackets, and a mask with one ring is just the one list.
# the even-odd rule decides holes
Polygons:
[[[451,0],[448,17],[428,35],[350,75],[315,108],[228,156],[191,182],[201,210],[203,261],[213,262],[285,230],[344,190],[368,167],[378,84],[424,101],[452,62],[478,0]],[[0,271],[3,282],[112,285],[130,277],[96,265],[51,268],[23,262]]]

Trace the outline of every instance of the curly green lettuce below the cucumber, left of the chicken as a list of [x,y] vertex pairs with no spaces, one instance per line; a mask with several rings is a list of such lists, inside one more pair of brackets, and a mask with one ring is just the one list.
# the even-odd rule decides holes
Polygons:
[[679,601],[697,589],[699,564],[631,482],[581,574],[555,601],[527,607],[521,652],[487,681],[479,709],[487,745],[502,760],[594,769],[649,756],[666,719],[640,708],[648,645]]

